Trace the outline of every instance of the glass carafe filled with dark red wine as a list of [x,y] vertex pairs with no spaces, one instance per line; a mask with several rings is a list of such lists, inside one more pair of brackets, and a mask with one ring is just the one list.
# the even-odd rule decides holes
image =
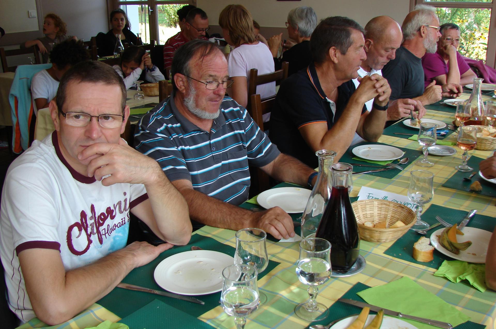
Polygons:
[[348,196],[348,176],[352,165],[338,162],[329,167],[331,195],[315,237],[331,243],[331,266],[334,272],[347,272],[359,256],[360,237],[355,213]]

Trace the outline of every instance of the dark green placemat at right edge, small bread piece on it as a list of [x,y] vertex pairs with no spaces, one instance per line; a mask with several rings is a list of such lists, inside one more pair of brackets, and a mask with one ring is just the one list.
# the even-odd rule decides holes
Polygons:
[[[470,167],[474,168],[474,170],[471,172],[457,171],[453,174],[453,176],[448,178],[442,186],[445,188],[458,189],[460,191],[466,191],[469,193],[496,197],[496,184],[484,180],[481,176],[479,176],[479,174],[475,174],[475,176],[472,177],[472,181],[470,182],[467,182],[463,179],[464,177],[470,176],[470,174],[472,174],[473,172],[479,172],[479,162],[481,162],[482,160],[484,159],[477,156],[471,156],[468,159],[467,164]],[[459,165],[461,163],[462,163],[461,156],[456,156],[453,159],[453,166]],[[481,183],[482,191],[473,191],[470,189],[470,184],[472,184],[474,181],[479,181]]]

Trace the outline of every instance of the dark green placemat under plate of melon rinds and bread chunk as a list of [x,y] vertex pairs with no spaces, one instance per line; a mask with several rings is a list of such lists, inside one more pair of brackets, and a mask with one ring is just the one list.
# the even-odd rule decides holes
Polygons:
[[[446,222],[450,224],[455,224],[455,223],[460,223],[463,218],[467,215],[468,211],[464,210],[456,210],[456,209],[451,209],[451,208],[446,208],[443,206],[439,206],[437,204],[431,204],[429,209],[427,209],[423,214],[422,214],[422,220],[427,222],[429,225],[433,225],[437,223],[437,220],[435,219],[435,216],[440,216],[442,219],[444,219]],[[470,220],[468,223],[468,227],[474,227],[477,229],[481,230],[486,230],[489,232],[493,232],[494,228],[496,225],[496,219],[493,217],[489,216],[484,216],[484,215],[479,215],[475,214],[474,217]],[[431,237],[431,234],[439,229],[441,229],[442,226],[438,226],[431,231],[427,232],[427,235],[424,235],[425,237]],[[424,265],[431,267],[433,269],[438,269],[439,266],[441,266],[442,262],[444,260],[453,260],[453,258],[446,256],[444,254],[441,254],[439,251],[434,250],[434,260],[431,262],[418,262],[416,261],[413,256],[413,244],[419,240],[419,238],[422,235],[419,235],[411,230],[408,230],[408,232],[397,239],[386,251],[384,251],[384,254],[399,258],[402,260],[406,260],[408,262]]]

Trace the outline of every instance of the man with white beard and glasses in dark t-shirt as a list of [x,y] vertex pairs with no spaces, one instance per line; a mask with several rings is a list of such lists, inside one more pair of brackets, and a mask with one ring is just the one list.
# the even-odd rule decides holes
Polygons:
[[[458,84],[436,86],[434,82],[424,90],[421,58],[426,52],[434,53],[437,50],[437,40],[441,37],[435,8],[417,5],[406,16],[401,29],[403,43],[396,50],[396,58],[382,69],[382,76],[391,86],[390,102],[413,99],[417,106],[423,106],[440,100],[441,96],[458,97],[462,93],[462,87]],[[396,113],[388,111],[388,120],[398,120],[410,115],[408,108],[396,108],[399,109]]]

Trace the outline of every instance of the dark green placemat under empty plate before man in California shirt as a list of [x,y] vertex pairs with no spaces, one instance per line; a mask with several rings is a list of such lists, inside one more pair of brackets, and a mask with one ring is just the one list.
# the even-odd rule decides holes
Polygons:
[[[235,233],[233,231],[233,236],[234,234]],[[219,241],[211,237],[194,234],[191,235],[191,240],[187,245],[175,246],[172,249],[164,251],[150,263],[132,270],[124,278],[123,282],[139,285],[142,287],[162,290],[162,288],[155,282],[153,278],[153,272],[155,271],[155,267],[157,267],[157,265],[162,260],[164,260],[169,256],[172,256],[174,254],[183,251],[191,250],[191,246],[193,245],[201,247],[205,250],[215,250],[215,251],[223,252],[230,256],[234,256],[234,252],[235,252],[235,248],[227,244],[220,243]],[[279,265],[278,262],[269,260],[267,269],[263,271],[258,276],[258,278],[259,279],[263,278],[263,276],[269,273],[277,265]],[[205,305],[199,305],[176,298],[159,296],[152,293],[132,291],[132,290],[116,287],[108,295],[100,299],[97,303],[102,305],[109,311],[114,312],[121,318],[124,318],[129,314],[135,312],[136,310],[140,309],[141,307],[145,306],[146,304],[150,303],[154,299],[158,299],[196,318],[219,305],[220,291],[209,295],[201,295],[196,297],[204,301]]]

